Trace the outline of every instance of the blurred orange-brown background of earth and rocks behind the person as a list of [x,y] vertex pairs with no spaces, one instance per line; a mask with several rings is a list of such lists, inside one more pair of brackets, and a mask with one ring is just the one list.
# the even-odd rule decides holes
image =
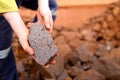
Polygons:
[[[52,37],[57,63],[43,68],[18,43],[13,49],[20,80],[120,80],[120,0],[56,0]],[[27,24],[35,10],[20,7]]]

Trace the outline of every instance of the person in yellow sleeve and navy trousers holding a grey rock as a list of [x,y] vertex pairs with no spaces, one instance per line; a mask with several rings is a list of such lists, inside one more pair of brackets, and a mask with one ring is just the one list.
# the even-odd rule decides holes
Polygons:
[[[23,49],[34,56],[33,49],[29,46],[27,39],[29,29],[19,14],[20,3],[21,0],[0,0],[0,80],[18,80],[15,59],[11,49],[13,31]],[[38,0],[37,19],[52,32],[53,20],[48,0]]]

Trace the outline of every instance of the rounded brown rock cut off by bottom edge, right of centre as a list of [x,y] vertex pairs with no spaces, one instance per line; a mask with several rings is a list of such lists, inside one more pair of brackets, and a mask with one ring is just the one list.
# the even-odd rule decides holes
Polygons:
[[105,77],[96,70],[90,69],[78,75],[76,80],[105,80]]

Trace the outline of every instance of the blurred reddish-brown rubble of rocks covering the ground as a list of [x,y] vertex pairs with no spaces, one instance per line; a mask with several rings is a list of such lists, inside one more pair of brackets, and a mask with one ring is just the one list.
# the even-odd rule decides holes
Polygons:
[[35,63],[13,36],[20,80],[120,80],[120,1],[78,28],[55,26],[52,36],[60,55],[47,69]]

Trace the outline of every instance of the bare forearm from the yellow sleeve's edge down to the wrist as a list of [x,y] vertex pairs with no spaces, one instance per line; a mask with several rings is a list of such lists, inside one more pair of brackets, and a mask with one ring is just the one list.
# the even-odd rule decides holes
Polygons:
[[20,37],[22,34],[24,35],[24,32],[28,30],[25,27],[25,24],[22,21],[19,12],[9,12],[3,14],[3,16],[9,22],[9,24],[11,25],[12,29],[14,30],[18,37]]

